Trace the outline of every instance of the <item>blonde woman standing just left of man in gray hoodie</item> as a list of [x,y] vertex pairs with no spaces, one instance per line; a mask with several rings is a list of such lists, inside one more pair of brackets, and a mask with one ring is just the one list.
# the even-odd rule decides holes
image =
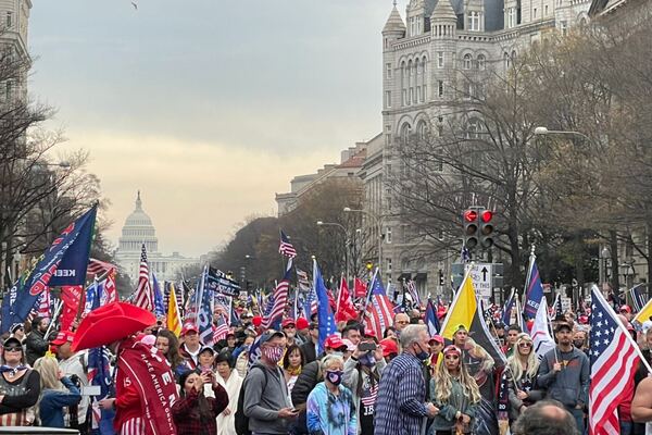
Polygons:
[[543,399],[542,390],[535,390],[539,359],[534,349],[532,339],[519,334],[514,353],[507,359],[505,375],[510,388],[510,421],[515,421],[527,407]]

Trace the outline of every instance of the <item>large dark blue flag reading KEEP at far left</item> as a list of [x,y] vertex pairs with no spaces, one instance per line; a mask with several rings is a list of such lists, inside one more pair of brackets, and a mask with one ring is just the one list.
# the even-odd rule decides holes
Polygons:
[[25,321],[46,287],[84,284],[96,214],[97,207],[92,207],[68,225],[41,256],[29,274],[21,297],[12,307],[14,321]]

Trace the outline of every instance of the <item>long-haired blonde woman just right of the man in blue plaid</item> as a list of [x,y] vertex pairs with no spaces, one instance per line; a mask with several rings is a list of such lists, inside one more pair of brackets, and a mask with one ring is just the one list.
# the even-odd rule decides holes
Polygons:
[[443,364],[430,381],[430,401],[439,408],[429,435],[468,434],[480,403],[478,384],[462,361],[462,349],[443,349]]

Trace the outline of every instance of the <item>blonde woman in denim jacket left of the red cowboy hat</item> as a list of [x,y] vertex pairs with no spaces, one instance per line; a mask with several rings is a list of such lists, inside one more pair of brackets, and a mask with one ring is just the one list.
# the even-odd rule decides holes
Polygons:
[[65,427],[63,408],[77,405],[82,400],[79,389],[71,380],[63,376],[57,360],[41,357],[34,363],[40,374],[41,396],[37,403],[40,425],[43,427]]

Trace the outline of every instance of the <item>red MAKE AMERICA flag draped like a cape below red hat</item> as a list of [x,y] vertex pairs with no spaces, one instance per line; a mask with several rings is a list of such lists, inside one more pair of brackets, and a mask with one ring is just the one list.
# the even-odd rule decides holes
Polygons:
[[138,390],[146,434],[176,435],[172,405],[179,396],[167,360],[155,348],[129,337],[120,346],[117,369],[124,370]]

